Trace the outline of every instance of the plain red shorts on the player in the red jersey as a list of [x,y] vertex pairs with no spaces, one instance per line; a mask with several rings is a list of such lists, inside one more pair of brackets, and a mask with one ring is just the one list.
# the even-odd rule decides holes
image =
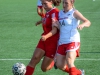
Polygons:
[[37,48],[40,48],[42,50],[45,51],[45,56],[49,57],[49,58],[54,58],[56,50],[57,50],[57,44],[58,41],[51,41],[51,40],[46,40],[46,41],[42,41],[40,40]]

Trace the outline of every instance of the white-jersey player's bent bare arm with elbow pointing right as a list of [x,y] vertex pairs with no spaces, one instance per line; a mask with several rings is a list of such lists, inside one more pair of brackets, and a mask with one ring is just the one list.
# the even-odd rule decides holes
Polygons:
[[86,19],[79,11],[75,11],[74,17],[82,21],[82,24],[78,26],[78,29],[82,30],[84,27],[89,27],[91,22]]

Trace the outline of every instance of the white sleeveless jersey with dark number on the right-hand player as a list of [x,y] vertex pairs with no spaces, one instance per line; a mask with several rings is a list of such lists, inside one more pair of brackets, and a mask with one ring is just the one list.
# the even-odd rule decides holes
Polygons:
[[77,30],[77,26],[79,25],[80,21],[73,16],[75,11],[75,9],[71,9],[67,13],[65,13],[63,10],[59,12],[59,45],[68,44],[71,42],[80,42],[80,34]]

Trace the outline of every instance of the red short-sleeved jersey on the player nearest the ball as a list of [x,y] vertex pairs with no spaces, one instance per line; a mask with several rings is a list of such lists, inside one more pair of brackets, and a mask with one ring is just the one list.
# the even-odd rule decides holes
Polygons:
[[[43,18],[43,34],[42,35],[46,35],[47,33],[49,33],[52,30],[52,18],[55,18],[56,20],[58,20],[58,14],[59,14],[59,10],[57,8],[53,8],[50,11],[46,12],[45,17]],[[48,39],[51,40],[56,40],[59,37],[59,31],[57,31],[57,33],[53,36],[51,36]]]

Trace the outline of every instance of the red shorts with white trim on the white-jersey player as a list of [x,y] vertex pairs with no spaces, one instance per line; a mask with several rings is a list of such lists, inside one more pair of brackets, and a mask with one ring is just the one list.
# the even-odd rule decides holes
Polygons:
[[72,42],[69,44],[62,44],[58,46],[57,53],[61,55],[66,55],[68,51],[76,51],[76,57],[79,57],[80,42]]

